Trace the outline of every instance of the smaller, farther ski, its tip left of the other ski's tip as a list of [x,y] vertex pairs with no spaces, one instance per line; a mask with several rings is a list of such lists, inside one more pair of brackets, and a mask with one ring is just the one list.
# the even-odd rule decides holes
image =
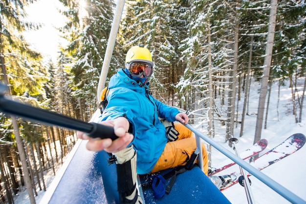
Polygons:
[[[240,153],[240,157],[243,158],[243,160],[248,159],[250,157],[253,157],[255,155],[257,155],[258,153],[262,152],[268,145],[268,141],[265,139],[261,139],[260,141],[258,141],[257,143],[255,143],[252,147],[250,147],[249,149],[243,151]],[[208,172],[208,176],[213,176],[217,173],[219,173],[220,171],[231,167],[232,165],[236,164],[235,162],[233,162],[232,160],[228,159],[226,161],[223,161],[221,163],[219,163],[217,166],[214,166],[213,168],[211,168],[211,171]]]

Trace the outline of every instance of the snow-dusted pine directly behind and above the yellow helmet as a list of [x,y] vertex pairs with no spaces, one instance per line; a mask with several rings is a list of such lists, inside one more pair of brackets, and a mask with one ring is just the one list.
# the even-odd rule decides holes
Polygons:
[[[134,45],[143,44],[153,55],[154,71],[150,78],[153,95],[175,105],[175,84],[183,75],[186,63],[181,61],[180,41],[187,34],[188,1],[131,1],[127,4],[120,35],[125,54]],[[171,34],[171,35],[169,35]]]

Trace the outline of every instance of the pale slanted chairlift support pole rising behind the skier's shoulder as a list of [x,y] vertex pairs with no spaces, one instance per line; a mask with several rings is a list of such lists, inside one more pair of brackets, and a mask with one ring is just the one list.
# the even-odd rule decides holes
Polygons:
[[109,33],[109,41],[106,47],[106,52],[104,56],[104,61],[102,65],[102,70],[99,78],[98,88],[97,88],[97,102],[100,102],[100,96],[103,88],[105,87],[106,78],[109,72],[109,64],[112,56],[112,52],[114,50],[117,33],[119,30],[120,20],[123,13],[125,0],[117,0],[116,10],[114,13],[114,19],[112,21],[110,33]]

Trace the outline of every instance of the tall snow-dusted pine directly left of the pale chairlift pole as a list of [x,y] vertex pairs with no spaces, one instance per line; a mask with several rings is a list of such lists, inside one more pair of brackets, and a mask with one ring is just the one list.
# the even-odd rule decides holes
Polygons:
[[69,8],[64,14],[70,22],[63,32],[70,41],[64,52],[71,64],[67,71],[73,76],[73,96],[86,99],[85,108],[90,115],[96,109],[95,93],[109,38],[113,2],[88,0],[86,5],[80,5],[73,0],[61,1]]

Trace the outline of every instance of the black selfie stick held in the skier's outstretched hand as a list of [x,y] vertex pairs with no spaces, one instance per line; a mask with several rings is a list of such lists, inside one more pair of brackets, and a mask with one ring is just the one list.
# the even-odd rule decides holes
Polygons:
[[5,98],[7,86],[0,83],[0,111],[9,115],[18,116],[30,121],[43,122],[49,125],[55,125],[72,130],[79,130],[87,133],[91,138],[110,138],[115,140],[118,137],[114,133],[112,127],[94,123],[84,122],[60,115],[55,112],[50,112],[41,108],[26,105],[20,102],[14,102]]

